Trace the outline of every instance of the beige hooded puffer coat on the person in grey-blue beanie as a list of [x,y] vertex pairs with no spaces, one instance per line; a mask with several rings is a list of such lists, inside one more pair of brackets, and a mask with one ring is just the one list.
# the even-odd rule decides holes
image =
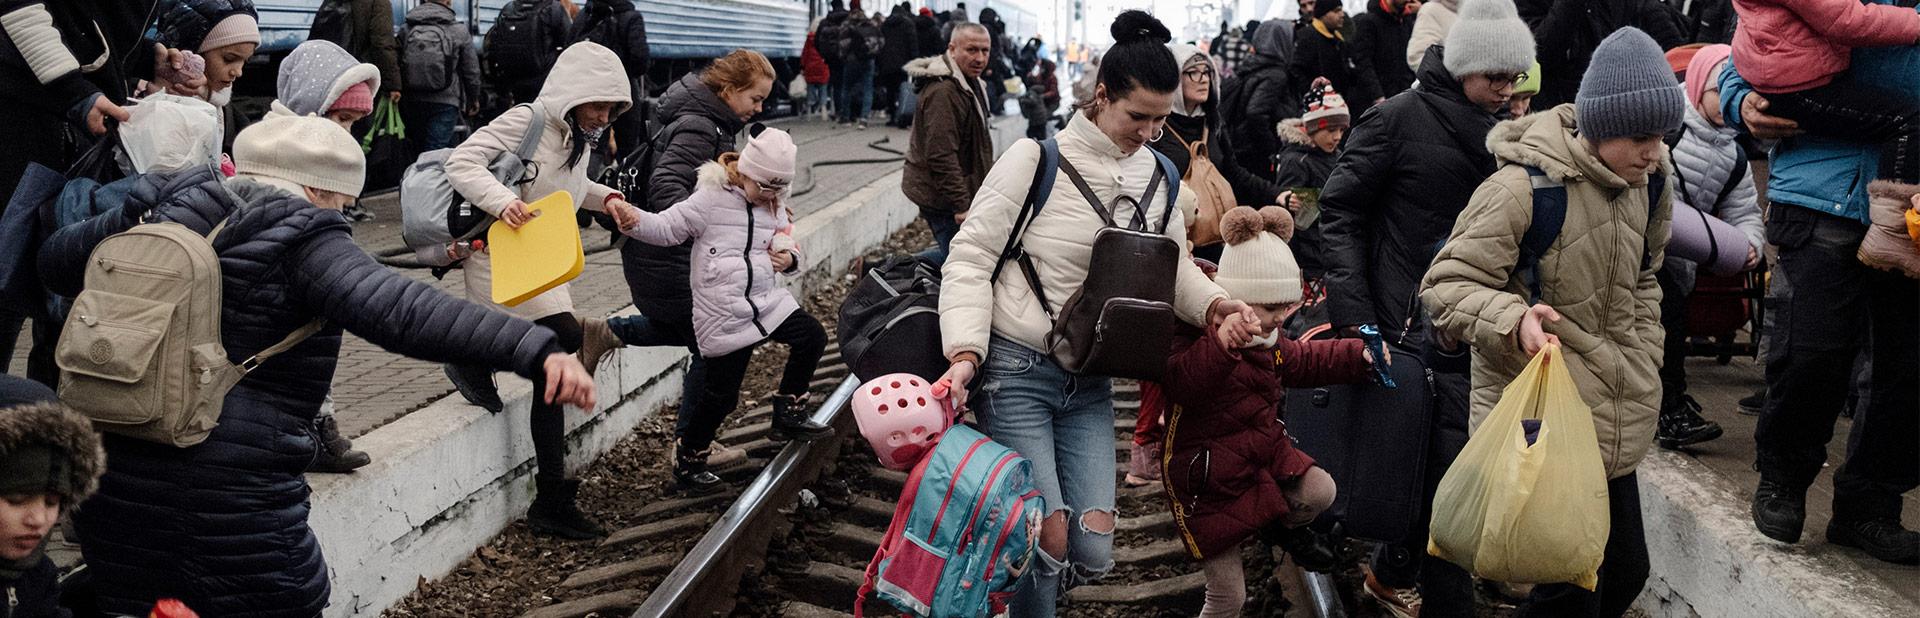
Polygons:
[[[1486,136],[1503,165],[1486,178],[1434,257],[1421,299],[1446,334],[1473,344],[1473,422],[1526,368],[1515,334],[1528,290],[1513,273],[1532,223],[1532,182],[1523,165],[1567,184],[1567,225],[1540,257],[1540,301],[1559,311],[1544,324],[1559,336],[1580,397],[1594,407],[1607,478],[1634,472],[1653,443],[1661,405],[1661,288],[1672,182],[1651,225],[1645,182],[1630,186],[1574,134],[1572,106],[1507,121]],[[1661,173],[1672,165],[1661,161]],[[1647,242],[1645,238],[1653,238]],[[1642,269],[1651,251],[1651,269]]]

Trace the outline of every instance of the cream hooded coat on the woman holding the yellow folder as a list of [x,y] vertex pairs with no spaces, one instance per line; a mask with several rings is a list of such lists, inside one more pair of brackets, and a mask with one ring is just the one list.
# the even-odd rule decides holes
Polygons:
[[[545,115],[538,121],[547,127],[540,134],[534,163],[528,165],[528,173],[534,175],[532,182],[509,188],[488,171],[488,161],[493,161],[495,155],[520,148],[528,123],[536,121],[532,107],[507,109],[447,155],[447,180],[453,190],[493,217],[499,217],[513,200],[534,203],[534,200],[553,192],[572,194],[574,207],[601,211],[607,198],[616,194],[588,178],[586,155],[572,169],[566,167],[574,146],[574,129],[566,117],[582,104],[612,102],[614,115],[634,106],[620,58],[599,44],[578,42],[561,52],[549,75],[555,79],[547,79],[547,84],[540,88],[540,98],[536,98],[545,107]],[[530,321],[574,311],[574,297],[564,284],[518,307],[493,305],[493,263],[486,251],[468,257],[463,271],[467,273],[467,297],[476,303]]]

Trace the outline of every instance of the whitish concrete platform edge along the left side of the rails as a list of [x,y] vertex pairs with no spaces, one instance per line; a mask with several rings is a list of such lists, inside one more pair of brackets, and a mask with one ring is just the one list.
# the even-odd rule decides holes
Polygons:
[[[996,152],[1023,129],[1023,123],[996,123]],[[893,171],[803,217],[795,240],[804,250],[803,273],[808,276],[791,278],[787,286],[799,296],[841,274],[852,257],[918,215],[900,194],[900,171]],[[630,313],[632,305],[620,311]],[[680,397],[685,357],[685,351],[662,347],[612,353],[595,380],[601,409],[593,415],[568,411],[568,468],[588,466],[660,405]],[[332,580],[324,616],[384,612],[422,578],[445,576],[526,512],[534,499],[534,443],[526,434],[532,384],[499,374],[499,390],[507,401],[499,415],[447,395],[355,440],[355,447],[372,455],[371,466],[307,478],[313,486],[309,524]]]

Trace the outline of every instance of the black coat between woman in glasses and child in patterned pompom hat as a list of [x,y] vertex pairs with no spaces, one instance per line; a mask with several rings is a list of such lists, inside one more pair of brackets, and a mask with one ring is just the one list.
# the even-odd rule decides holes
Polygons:
[[1288,77],[1292,58],[1294,23],[1267,19],[1254,33],[1254,58],[1235,69],[1233,83],[1221,92],[1225,129],[1233,138],[1233,155],[1240,169],[1271,171],[1273,155],[1281,152],[1273,127],[1281,119],[1300,115],[1300,100],[1294,96],[1298,88]]

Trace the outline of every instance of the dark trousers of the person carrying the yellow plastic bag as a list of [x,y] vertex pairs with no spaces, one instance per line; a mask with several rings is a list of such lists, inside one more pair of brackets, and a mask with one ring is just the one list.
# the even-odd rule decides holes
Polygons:
[[1640,520],[1640,472],[1607,482],[1607,516],[1613,526],[1599,562],[1599,585],[1594,591],[1572,583],[1534,585],[1517,616],[1619,618],[1634,606],[1649,568],[1647,526]]

